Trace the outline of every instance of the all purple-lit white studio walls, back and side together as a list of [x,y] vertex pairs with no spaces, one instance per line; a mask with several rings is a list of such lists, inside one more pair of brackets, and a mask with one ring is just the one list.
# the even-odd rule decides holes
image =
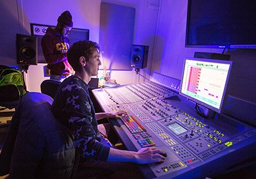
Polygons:
[[[149,77],[152,72],[181,78],[185,57],[195,51],[218,52],[221,49],[185,48],[186,13],[188,0],[102,0],[136,8],[134,44],[149,45],[148,66],[141,74]],[[1,65],[16,65],[15,35],[30,35],[30,23],[56,25],[61,12],[70,10],[74,27],[90,29],[90,40],[99,42],[100,0],[2,0],[0,1],[0,61]],[[256,101],[256,51],[234,50],[231,54],[232,75],[228,93]],[[153,60],[154,59],[154,60]],[[44,64],[29,66],[26,77],[29,91],[40,91],[45,79]],[[102,74],[100,72],[99,74]],[[112,71],[111,78],[120,84],[143,81],[134,71]]]

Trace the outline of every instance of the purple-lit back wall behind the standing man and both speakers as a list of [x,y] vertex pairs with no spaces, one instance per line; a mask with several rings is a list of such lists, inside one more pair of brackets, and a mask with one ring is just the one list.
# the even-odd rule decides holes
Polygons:
[[[159,10],[159,0],[113,0],[104,2],[115,3],[136,8],[134,44],[150,46],[148,66],[147,68],[145,68],[145,70],[141,71],[141,74],[145,75],[146,77],[150,77],[150,68],[154,49],[154,35],[156,34],[157,15]],[[3,2],[1,1],[1,3]],[[3,9],[6,12],[12,12],[13,19],[15,20],[15,23],[13,23],[13,19],[10,19],[10,17],[6,18],[9,20],[7,21],[8,23],[10,23],[8,24],[10,26],[10,29],[15,29],[11,34],[9,33],[8,35],[8,38],[12,40],[11,43],[8,43],[8,46],[12,47],[12,51],[14,53],[12,53],[12,55],[7,54],[5,57],[3,57],[2,54],[4,54],[4,52],[7,51],[7,49],[4,49],[3,53],[1,52],[0,54],[1,58],[4,58],[2,64],[16,64],[16,33],[31,35],[30,23],[56,25],[58,16],[65,10],[69,10],[72,14],[74,27],[90,29],[90,40],[99,42],[100,3],[100,0],[10,0],[8,3],[7,1],[5,1],[4,4],[2,4]],[[3,22],[1,24],[6,24],[6,22]],[[143,24],[141,24],[141,22],[143,22]],[[8,29],[6,29],[6,32],[7,31]],[[12,60],[9,60],[8,58],[11,58]],[[44,65],[45,64],[29,66],[28,74],[25,74],[25,80],[29,91],[40,91],[41,82],[44,81],[44,79],[49,78],[44,77]],[[99,74],[102,73],[100,72]],[[139,80],[143,81],[143,78],[136,75],[134,70],[112,71],[111,78],[116,79],[116,82],[120,84],[128,84],[132,82],[137,82]]]

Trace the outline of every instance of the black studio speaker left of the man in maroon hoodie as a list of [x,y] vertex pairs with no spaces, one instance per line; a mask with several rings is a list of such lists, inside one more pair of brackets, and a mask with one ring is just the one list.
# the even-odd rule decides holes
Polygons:
[[16,35],[17,64],[37,65],[37,38]]

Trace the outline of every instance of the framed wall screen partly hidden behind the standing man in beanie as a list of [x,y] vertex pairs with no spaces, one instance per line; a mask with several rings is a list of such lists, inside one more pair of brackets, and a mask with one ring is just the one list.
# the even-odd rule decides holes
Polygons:
[[[31,36],[37,37],[38,63],[47,63],[44,59],[41,40],[42,40],[42,36],[44,36],[46,33],[46,29],[48,27],[55,27],[55,26],[42,25],[42,24],[30,24],[30,27],[31,27]],[[75,35],[75,33],[84,33],[85,36],[84,36],[84,38],[77,38],[77,35]],[[81,29],[81,28],[72,28],[72,30],[70,31],[70,35],[68,35],[68,39],[69,39],[70,45],[72,45],[74,42],[77,42],[79,40],[89,40],[90,39],[90,30],[89,29]]]

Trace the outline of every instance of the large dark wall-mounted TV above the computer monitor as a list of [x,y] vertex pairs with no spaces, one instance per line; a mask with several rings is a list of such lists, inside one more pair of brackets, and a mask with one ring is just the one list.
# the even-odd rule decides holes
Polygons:
[[[253,32],[256,31],[256,24],[252,23],[255,22],[256,19],[256,3],[253,4],[253,0],[243,1],[243,3],[232,0],[221,2],[203,0],[202,2],[204,2],[204,4],[209,4],[209,6],[204,6],[203,3],[200,3],[198,0],[188,0],[185,47],[212,49],[256,49],[256,37],[253,37],[255,36]],[[209,2],[215,3],[214,6],[212,6],[212,4]],[[239,3],[236,4],[235,2]],[[198,3],[200,6],[198,6]],[[196,13],[193,13],[193,7],[195,6],[198,8],[194,10]],[[218,10],[223,13],[218,13]],[[236,10],[237,12],[232,13]],[[242,12],[252,13],[247,15],[247,13]],[[194,14],[194,16],[192,14]],[[209,17],[207,17],[206,14],[209,14]],[[216,19],[211,17],[216,17]],[[254,20],[253,17],[255,17]],[[250,27],[243,26],[242,24],[250,25]],[[246,29],[248,29],[248,31]],[[198,33],[199,31],[201,31],[201,33]],[[244,33],[244,31],[247,31],[247,33]],[[242,38],[241,35],[243,36]],[[249,40],[250,43],[246,43],[249,42]]]

